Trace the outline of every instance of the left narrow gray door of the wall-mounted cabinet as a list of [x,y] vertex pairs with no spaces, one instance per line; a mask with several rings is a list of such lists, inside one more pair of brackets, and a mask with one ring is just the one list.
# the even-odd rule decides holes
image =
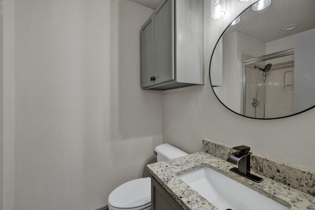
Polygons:
[[154,14],[141,28],[141,87],[154,85]]

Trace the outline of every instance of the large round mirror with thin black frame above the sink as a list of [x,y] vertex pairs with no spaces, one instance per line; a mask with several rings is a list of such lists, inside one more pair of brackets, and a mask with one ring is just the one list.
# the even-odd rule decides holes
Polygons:
[[315,0],[259,0],[235,17],[210,64],[212,89],[226,108],[276,119],[315,106],[314,9]]

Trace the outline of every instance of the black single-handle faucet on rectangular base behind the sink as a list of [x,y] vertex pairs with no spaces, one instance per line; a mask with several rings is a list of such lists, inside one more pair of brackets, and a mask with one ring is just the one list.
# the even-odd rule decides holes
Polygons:
[[232,149],[237,151],[230,154],[226,161],[238,165],[238,168],[231,168],[230,171],[255,182],[262,181],[262,178],[251,174],[251,148],[242,145]]

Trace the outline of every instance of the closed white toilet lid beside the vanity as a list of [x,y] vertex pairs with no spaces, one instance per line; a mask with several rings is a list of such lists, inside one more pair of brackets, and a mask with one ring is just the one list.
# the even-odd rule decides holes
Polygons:
[[137,208],[151,202],[151,178],[127,181],[108,196],[108,203],[116,208]]

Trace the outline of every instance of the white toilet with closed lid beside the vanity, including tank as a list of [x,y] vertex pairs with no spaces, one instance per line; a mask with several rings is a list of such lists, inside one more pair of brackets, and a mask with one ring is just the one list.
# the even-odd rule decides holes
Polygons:
[[[188,155],[169,144],[156,147],[157,160],[163,161]],[[108,196],[109,210],[151,210],[151,178],[127,181]]]

